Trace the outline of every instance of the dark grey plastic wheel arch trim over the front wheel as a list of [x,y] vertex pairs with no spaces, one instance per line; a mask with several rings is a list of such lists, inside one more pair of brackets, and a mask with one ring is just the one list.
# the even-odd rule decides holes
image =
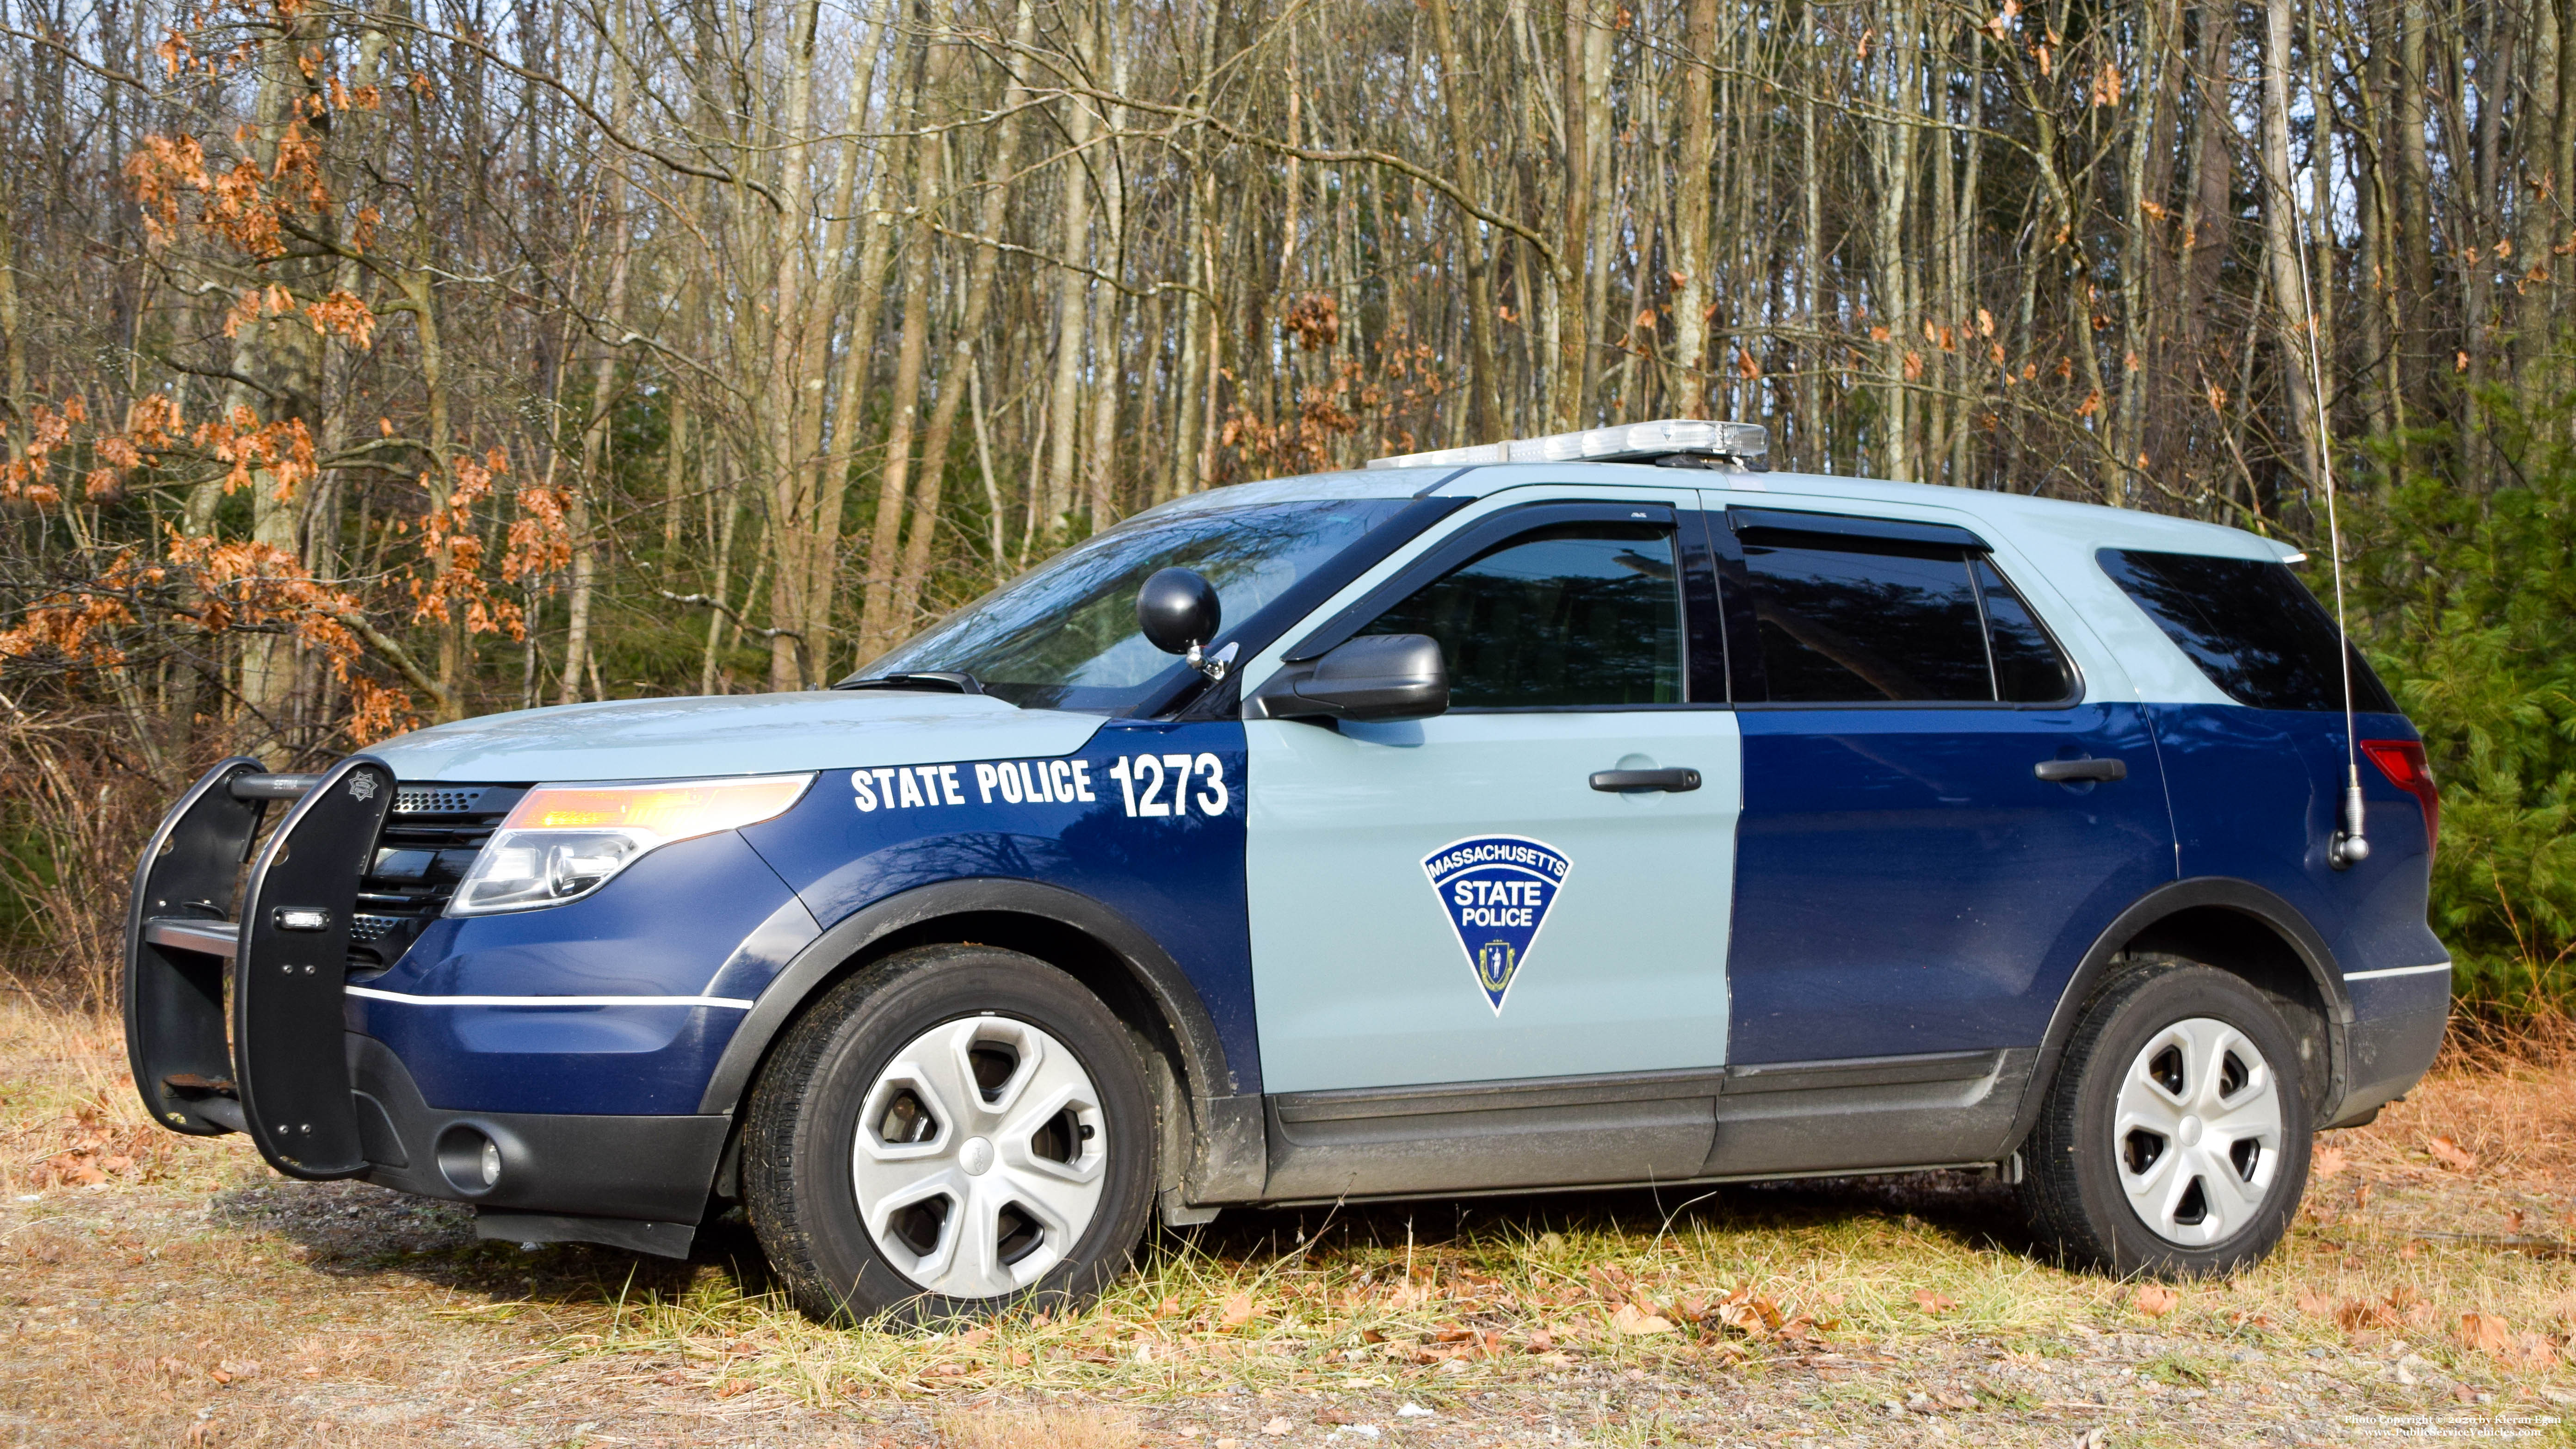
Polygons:
[[770,1044],[829,987],[855,957],[896,933],[958,915],[1023,915],[1072,928],[1103,946],[1162,1013],[1180,1047],[1182,1091],[1198,1116],[1193,1201],[1239,1201],[1260,1194],[1270,1171],[1262,1104],[1236,1088],[1216,1021],[1180,964],[1133,920],[1054,884],[971,877],[914,887],[866,905],[809,941],[734,1029],[698,1098],[701,1114],[734,1114]]

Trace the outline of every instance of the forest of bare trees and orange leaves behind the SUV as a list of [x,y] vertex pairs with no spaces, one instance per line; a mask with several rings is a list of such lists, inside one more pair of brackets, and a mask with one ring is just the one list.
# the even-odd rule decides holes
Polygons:
[[224,753],[1716,415],[2318,559],[2331,469],[2460,987],[2563,1024],[2576,3],[1994,3],[0,0],[8,972],[106,1000]]

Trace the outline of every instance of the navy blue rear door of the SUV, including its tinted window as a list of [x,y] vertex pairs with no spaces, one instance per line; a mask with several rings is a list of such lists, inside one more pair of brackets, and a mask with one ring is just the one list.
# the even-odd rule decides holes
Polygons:
[[1978,534],[1723,508],[1744,732],[1731,1065],[2035,1047],[2076,959],[2174,879],[2154,735]]

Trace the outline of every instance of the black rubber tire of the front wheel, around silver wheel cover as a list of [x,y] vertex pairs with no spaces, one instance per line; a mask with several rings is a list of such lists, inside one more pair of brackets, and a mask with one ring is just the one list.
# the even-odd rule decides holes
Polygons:
[[[1082,1124],[1059,1129],[1051,1140],[1069,1142],[1069,1132],[1079,1132],[1079,1142],[1087,1145],[1097,1134],[1103,1142],[1100,1158],[1092,1158],[1097,1204],[1087,1227],[1066,1232],[1074,1238],[1072,1248],[1046,1243],[1056,1258],[1036,1281],[981,1297],[956,1297],[927,1292],[907,1276],[894,1256],[902,1250],[902,1235],[891,1248],[871,1238],[860,1217],[858,1152],[863,1142],[858,1134],[871,1091],[886,1088],[881,1078],[896,1052],[920,1047],[927,1034],[940,1029],[974,1034],[984,1024],[1002,1031],[1033,1026],[1054,1044],[1066,1047],[1087,1073],[1095,1088],[1095,1104],[1087,1111],[1097,1132],[1092,1124]],[[976,1083],[981,1083],[984,1067],[974,1070]],[[1018,1073],[1020,1067],[1007,1070]],[[992,1091],[981,1096],[992,1101]],[[914,1101],[914,1106],[920,1104]],[[956,1116],[966,1119],[969,1114]],[[886,1122],[894,1119],[886,1116]],[[956,1132],[961,1127],[951,1124],[935,1129],[935,1137],[948,1142],[948,1134]],[[832,987],[796,1021],[762,1065],[742,1124],[742,1196],[770,1269],[788,1287],[796,1307],[817,1323],[930,1325],[987,1318],[1012,1307],[1077,1310],[1100,1297],[1133,1258],[1154,1204],[1154,1104],[1136,1047],[1100,998],[1056,967],[1020,951],[920,946],[896,951]],[[884,1137],[871,1137],[871,1142],[886,1150]],[[904,1137],[902,1142],[925,1140]],[[971,1140],[966,1145],[971,1150]],[[981,1150],[981,1160],[984,1168],[961,1171],[992,1171],[994,1150],[989,1145]],[[969,1194],[963,1201],[974,1201],[974,1196]],[[951,1214],[956,1225],[948,1222]],[[971,1212],[956,1196],[948,1196],[935,1217],[933,1240],[948,1240],[951,1232],[963,1238],[971,1222]],[[886,1222],[891,1230],[894,1217]],[[1036,1217],[1028,1217],[1023,1227],[1033,1222]],[[1038,1227],[1038,1240],[1043,1238],[1046,1230]],[[963,1248],[953,1243],[951,1253],[958,1250]],[[927,1258],[914,1263],[922,1261]]]

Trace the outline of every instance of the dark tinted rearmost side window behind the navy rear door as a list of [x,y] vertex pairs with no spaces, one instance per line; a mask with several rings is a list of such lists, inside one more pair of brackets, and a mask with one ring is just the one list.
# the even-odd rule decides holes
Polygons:
[[[2094,557],[2228,699],[2254,709],[2344,709],[2334,616],[2290,565],[2146,549]],[[2352,652],[2352,706],[2398,712],[2360,650]]]

